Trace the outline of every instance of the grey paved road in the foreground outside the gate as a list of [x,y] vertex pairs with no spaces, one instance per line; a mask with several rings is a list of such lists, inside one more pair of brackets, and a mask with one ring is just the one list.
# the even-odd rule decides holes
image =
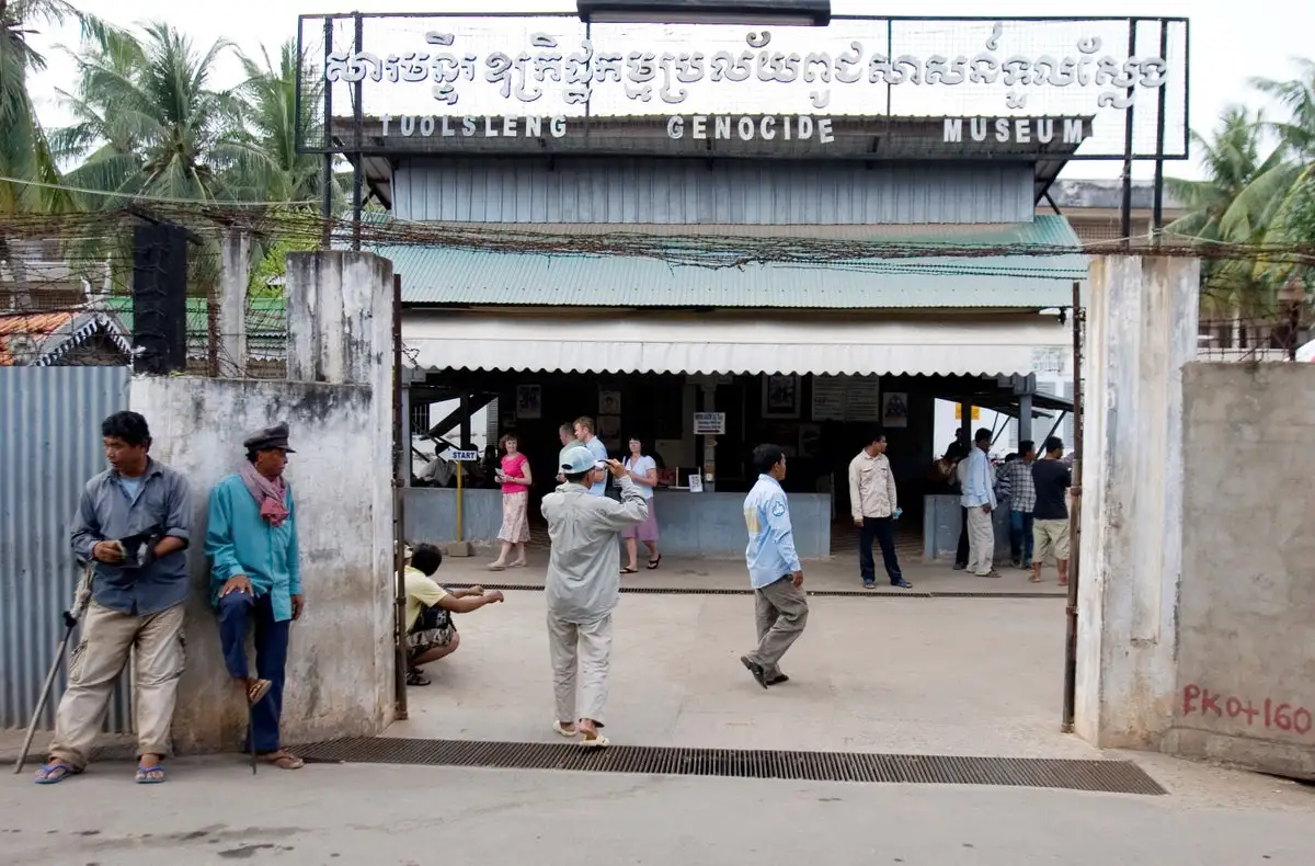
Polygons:
[[[1181,794],[179,761],[0,780],[0,862],[70,866],[1308,866],[1315,792],[1191,769]],[[1162,774],[1157,774],[1161,775]],[[1274,791],[1278,791],[1277,794]],[[1222,794],[1227,792],[1227,794]]]

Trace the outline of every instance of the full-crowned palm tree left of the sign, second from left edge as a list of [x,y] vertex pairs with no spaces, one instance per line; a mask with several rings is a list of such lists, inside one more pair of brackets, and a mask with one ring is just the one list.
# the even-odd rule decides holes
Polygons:
[[[51,136],[57,157],[80,159],[66,174],[88,208],[118,207],[133,196],[187,201],[263,200],[274,162],[241,125],[241,103],[209,87],[217,39],[204,53],[167,24],[141,37],[97,33],[75,54],[76,93],[60,91],[72,126]],[[122,196],[122,197],[121,197]]]

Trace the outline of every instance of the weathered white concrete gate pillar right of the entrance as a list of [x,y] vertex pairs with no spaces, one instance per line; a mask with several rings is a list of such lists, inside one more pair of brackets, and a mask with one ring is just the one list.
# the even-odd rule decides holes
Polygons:
[[1172,721],[1198,288],[1195,259],[1091,266],[1074,726],[1102,748],[1155,746]]

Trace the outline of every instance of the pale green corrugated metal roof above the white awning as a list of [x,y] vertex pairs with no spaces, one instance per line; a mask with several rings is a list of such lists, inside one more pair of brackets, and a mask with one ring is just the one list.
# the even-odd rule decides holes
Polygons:
[[[625,230],[625,226],[618,226]],[[846,240],[856,240],[847,229]],[[438,246],[379,246],[402,276],[406,304],[543,307],[742,307],[881,309],[1066,307],[1086,257],[1068,220],[990,226],[873,226],[868,240],[963,253],[1020,247],[1013,255],[865,258],[715,267],[743,254],[709,243],[707,265],[635,255],[512,253]],[[789,241],[786,241],[789,242]],[[673,240],[675,245],[676,241]],[[689,261],[688,240],[680,259]],[[1044,250],[1028,255],[1022,250]],[[1073,250],[1059,253],[1055,250]]]

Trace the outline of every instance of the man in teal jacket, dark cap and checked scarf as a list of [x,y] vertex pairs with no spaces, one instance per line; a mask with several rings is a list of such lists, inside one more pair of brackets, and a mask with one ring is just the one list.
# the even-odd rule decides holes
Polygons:
[[[205,528],[220,642],[229,674],[251,708],[247,748],[276,767],[299,770],[301,758],[279,742],[288,630],[305,611],[297,515],[292,488],[283,478],[288,454],[293,453],[288,447],[288,425],[264,428],[242,445],[246,462],[210,491]],[[255,629],[255,676],[246,658],[250,626]]]

